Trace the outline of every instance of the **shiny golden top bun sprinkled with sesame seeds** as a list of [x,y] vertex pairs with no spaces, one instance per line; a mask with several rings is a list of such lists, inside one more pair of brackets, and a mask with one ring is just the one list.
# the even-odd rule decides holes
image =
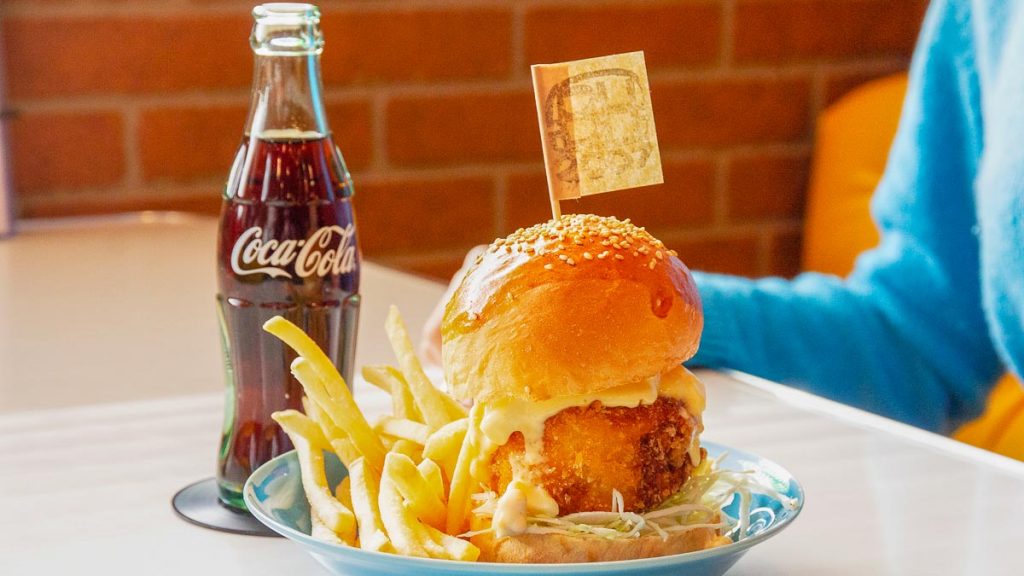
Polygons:
[[644,229],[564,215],[498,239],[441,323],[460,400],[547,400],[637,382],[696,353],[703,315],[676,255]]

